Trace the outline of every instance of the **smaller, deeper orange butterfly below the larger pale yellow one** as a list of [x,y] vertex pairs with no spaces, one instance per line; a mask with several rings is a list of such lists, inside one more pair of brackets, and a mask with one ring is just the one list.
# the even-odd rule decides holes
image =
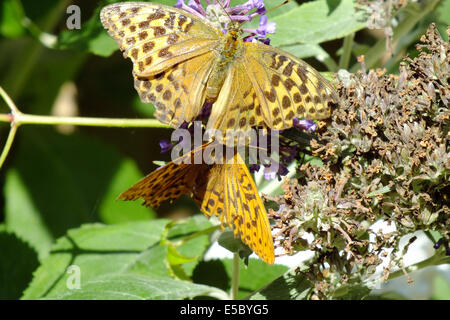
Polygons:
[[143,205],[158,207],[163,201],[191,195],[207,217],[217,216],[222,229],[233,229],[235,237],[272,264],[275,258],[267,212],[239,152],[222,163],[195,164],[198,155],[214,148],[213,143],[195,148],[153,171],[118,199],[143,199]]

